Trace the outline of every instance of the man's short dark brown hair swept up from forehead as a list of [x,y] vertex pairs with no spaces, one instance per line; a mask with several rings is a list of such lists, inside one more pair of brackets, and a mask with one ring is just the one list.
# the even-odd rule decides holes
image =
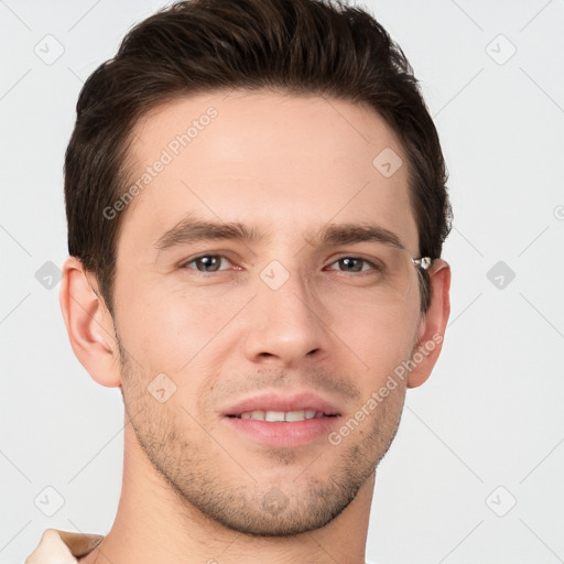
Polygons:
[[[451,230],[438,135],[400,46],[341,0],[188,0],[134,26],[85,83],[65,158],[68,251],[93,272],[112,312],[120,217],[104,209],[126,191],[131,132],[169,99],[218,89],[316,94],[373,108],[408,159],[420,256],[440,258]],[[430,303],[420,276],[421,311]]]

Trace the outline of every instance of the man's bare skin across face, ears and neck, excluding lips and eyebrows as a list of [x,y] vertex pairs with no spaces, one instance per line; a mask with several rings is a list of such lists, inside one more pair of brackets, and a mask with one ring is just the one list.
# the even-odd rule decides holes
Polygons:
[[[95,381],[121,387],[126,406],[116,520],[80,562],[362,564],[377,465],[406,388],[429,378],[441,351],[449,268],[433,264],[422,316],[414,269],[401,299],[383,300],[370,269],[339,270],[344,257],[369,259],[372,242],[314,240],[329,223],[370,223],[419,257],[403,151],[376,112],[349,102],[270,91],[169,102],[135,126],[131,182],[209,107],[217,116],[121,212],[113,318],[94,275],[73,258],[64,268],[73,349]],[[390,177],[372,165],[386,148],[404,163]],[[187,214],[263,238],[169,238],[159,249]],[[203,256],[224,259],[203,272]],[[275,290],[261,278],[272,261],[289,276]],[[267,446],[225,416],[257,392],[311,390],[338,409],[339,429],[431,340],[339,444],[324,435]],[[175,387],[163,402],[148,390],[158,375],[161,389]]]

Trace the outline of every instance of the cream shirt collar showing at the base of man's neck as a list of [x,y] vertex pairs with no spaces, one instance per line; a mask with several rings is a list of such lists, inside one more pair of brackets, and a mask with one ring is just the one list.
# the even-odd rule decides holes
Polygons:
[[[102,540],[100,534],[46,529],[37,547],[25,558],[24,564],[77,564],[77,558],[89,554]],[[377,563],[367,560],[366,564]]]

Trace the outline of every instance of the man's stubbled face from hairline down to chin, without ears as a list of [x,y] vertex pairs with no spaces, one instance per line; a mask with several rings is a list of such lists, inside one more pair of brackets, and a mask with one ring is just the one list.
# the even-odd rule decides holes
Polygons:
[[[176,135],[194,120],[183,147]],[[366,108],[271,93],[177,100],[134,133],[131,183],[147,166],[151,181],[124,212],[113,295],[139,443],[181,498],[219,523],[263,535],[323,527],[393,440],[404,381],[367,416],[355,413],[411,357],[421,318],[409,262],[399,269],[409,285],[394,293],[397,280],[370,263],[339,261],[379,258],[381,242],[322,243],[316,234],[370,224],[406,248],[394,260],[417,256],[406,166],[390,176],[372,164],[387,148],[405,162],[401,148]],[[194,239],[196,217],[257,237]],[[302,392],[334,416],[237,416],[248,398]],[[252,411],[315,411],[311,398],[275,405],[259,400]]]

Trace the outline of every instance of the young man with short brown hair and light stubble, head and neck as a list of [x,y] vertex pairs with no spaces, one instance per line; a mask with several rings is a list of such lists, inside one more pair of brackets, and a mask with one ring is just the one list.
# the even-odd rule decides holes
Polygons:
[[73,349],[124,402],[105,535],[29,564],[365,562],[376,467],[441,351],[446,173],[400,47],[313,0],[195,0],[87,80]]

